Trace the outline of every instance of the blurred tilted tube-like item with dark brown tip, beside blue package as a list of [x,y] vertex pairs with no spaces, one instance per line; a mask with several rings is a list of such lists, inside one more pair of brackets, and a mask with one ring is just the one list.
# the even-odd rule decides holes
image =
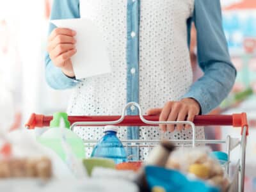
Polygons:
[[168,157],[174,149],[175,145],[173,145],[170,141],[161,141],[160,145],[157,145],[157,147],[153,148],[145,163],[143,164],[144,166],[141,167],[137,177],[134,179],[134,182],[138,184],[140,191],[150,191],[145,175],[145,168],[148,165],[164,167],[166,161],[168,161]]

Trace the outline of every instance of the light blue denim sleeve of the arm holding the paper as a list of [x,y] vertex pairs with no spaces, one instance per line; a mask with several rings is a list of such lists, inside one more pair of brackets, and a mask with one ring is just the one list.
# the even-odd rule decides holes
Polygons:
[[[79,0],[54,0],[52,4],[51,19],[72,19],[79,18]],[[53,24],[49,26],[49,34],[56,28]],[[60,68],[55,67],[49,57],[45,55],[45,77],[52,88],[63,90],[76,86],[76,79],[65,76]]]

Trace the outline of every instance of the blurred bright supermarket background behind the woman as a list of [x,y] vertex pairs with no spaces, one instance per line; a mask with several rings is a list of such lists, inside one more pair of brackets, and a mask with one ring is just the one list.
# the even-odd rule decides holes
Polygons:
[[[248,114],[251,130],[246,191],[256,191],[256,1],[223,0],[221,4],[223,28],[238,74],[232,93],[212,113],[245,111]],[[22,127],[32,112],[65,111],[70,90],[52,90],[44,79],[50,10],[51,0],[0,0],[0,129]],[[196,67],[193,42],[191,63],[196,79],[202,72]],[[207,127],[207,134],[209,138],[225,138],[227,134],[237,137],[239,129]],[[235,151],[232,158],[237,159],[237,156],[239,152]]]

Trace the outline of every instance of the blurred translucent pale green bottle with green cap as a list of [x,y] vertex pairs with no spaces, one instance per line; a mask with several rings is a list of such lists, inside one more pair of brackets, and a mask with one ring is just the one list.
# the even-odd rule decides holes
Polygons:
[[[64,122],[63,126],[65,129],[61,129],[61,120]],[[45,147],[54,150],[54,152],[65,161],[67,159],[67,152],[65,152],[63,143],[61,143],[63,142],[63,135],[74,156],[83,159],[85,157],[83,140],[70,130],[70,122],[68,122],[67,113],[54,113],[49,130],[45,131],[37,140]]]

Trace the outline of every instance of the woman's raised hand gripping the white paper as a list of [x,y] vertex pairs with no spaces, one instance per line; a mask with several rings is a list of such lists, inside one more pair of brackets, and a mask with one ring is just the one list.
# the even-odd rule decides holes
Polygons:
[[68,77],[74,77],[74,70],[70,58],[76,54],[76,31],[56,28],[48,39],[47,51],[56,67]]

